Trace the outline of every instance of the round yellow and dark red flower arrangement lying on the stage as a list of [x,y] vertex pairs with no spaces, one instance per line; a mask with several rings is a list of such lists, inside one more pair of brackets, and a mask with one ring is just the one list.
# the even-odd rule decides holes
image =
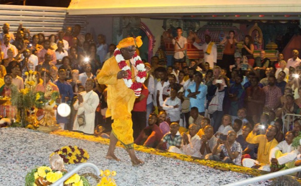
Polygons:
[[75,146],[63,146],[50,154],[50,157],[58,153],[67,164],[86,162],[89,159],[89,153],[82,148]]

